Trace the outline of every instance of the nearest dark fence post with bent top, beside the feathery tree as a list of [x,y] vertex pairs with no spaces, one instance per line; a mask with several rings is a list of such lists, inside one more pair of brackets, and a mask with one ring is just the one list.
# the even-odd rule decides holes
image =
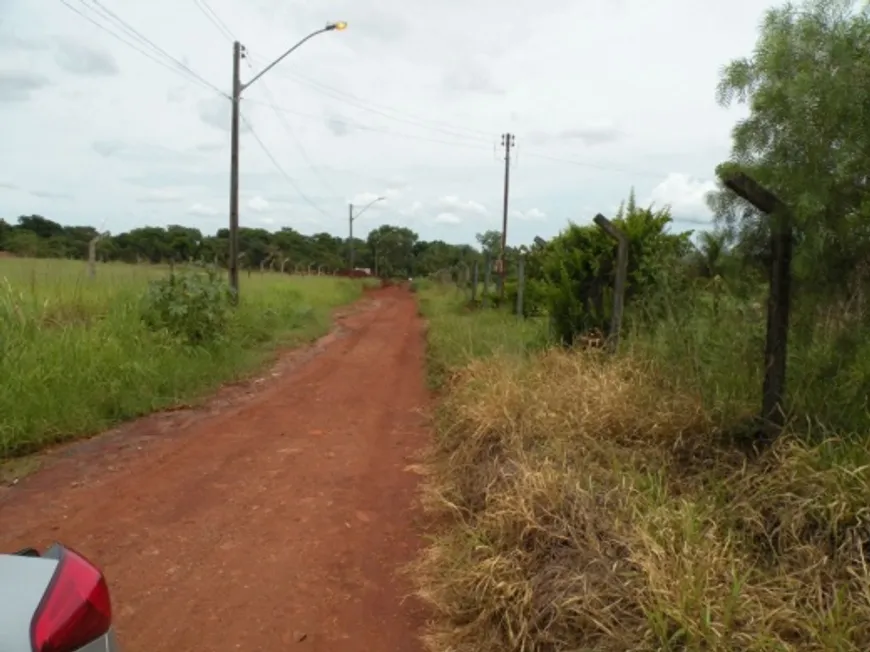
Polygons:
[[722,183],[770,218],[770,291],[767,299],[767,339],[764,345],[764,385],[761,418],[781,429],[785,422],[785,376],[791,311],[793,216],[785,203],[742,172],[724,173]]

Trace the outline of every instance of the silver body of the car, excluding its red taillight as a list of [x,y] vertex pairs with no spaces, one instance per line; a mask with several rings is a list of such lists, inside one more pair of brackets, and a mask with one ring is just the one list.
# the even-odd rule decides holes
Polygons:
[[[0,650],[33,652],[30,623],[45,594],[57,560],[47,557],[0,555]],[[76,652],[119,652],[114,633],[79,648]]]

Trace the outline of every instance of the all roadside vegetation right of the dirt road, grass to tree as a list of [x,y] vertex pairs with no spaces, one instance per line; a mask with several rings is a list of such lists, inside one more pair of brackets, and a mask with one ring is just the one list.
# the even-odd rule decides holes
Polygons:
[[437,526],[413,568],[430,650],[870,648],[868,42],[865,9],[808,2],[770,11],[723,73],[722,101],[749,105],[726,167],[795,212],[773,441],[770,222],[724,188],[709,233],[633,197],[612,216],[631,241],[616,355],[584,344],[610,317],[614,246],[595,226],[526,252],[526,319],[470,306],[461,270],[458,288],[421,284],[443,390],[423,492]]

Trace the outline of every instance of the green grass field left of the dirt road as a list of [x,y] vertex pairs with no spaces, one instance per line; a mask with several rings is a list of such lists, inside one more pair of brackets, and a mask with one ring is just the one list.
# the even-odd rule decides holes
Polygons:
[[241,278],[229,337],[191,347],[145,327],[149,280],[165,268],[0,259],[0,459],[195,400],[250,373],[277,344],[325,332],[361,293],[333,277]]

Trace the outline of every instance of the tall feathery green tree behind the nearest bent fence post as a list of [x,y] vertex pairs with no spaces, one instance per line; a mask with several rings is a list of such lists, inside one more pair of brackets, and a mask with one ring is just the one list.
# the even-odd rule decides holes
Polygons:
[[[870,259],[868,7],[809,0],[769,10],[753,55],[725,68],[718,99],[749,108],[719,171],[745,171],[793,208],[798,279],[826,291],[853,279]],[[766,218],[725,189],[709,204],[745,243],[736,250],[763,264]]]

